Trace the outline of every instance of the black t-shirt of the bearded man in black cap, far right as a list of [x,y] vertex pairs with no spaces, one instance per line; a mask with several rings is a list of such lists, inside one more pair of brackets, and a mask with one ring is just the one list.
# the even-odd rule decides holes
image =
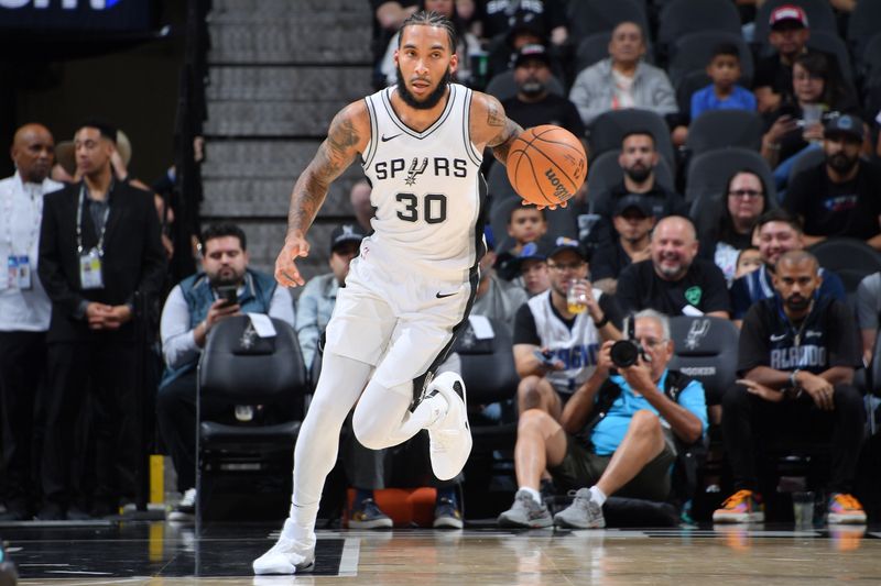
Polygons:
[[793,178],[784,207],[804,219],[805,234],[868,240],[881,232],[881,167],[859,165],[857,176],[844,184],[829,179],[825,163]]

